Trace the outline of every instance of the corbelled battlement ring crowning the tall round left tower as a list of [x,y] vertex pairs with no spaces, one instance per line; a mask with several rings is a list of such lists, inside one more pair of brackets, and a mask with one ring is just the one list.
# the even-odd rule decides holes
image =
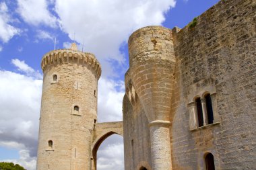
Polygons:
[[101,75],[100,62],[96,59],[94,54],[89,52],[81,52],[79,50],[72,49],[60,49],[52,50],[46,53],[42,57],[41,68],[44,71],[47,67],[61,65],[63,63],[71,63],[82,66],[88,66],[88,68],[93,69],[98,77]]

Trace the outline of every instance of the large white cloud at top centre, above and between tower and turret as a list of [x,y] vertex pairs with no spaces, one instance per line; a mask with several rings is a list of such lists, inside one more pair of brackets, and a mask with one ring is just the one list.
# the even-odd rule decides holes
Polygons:
[[[56,0],[56,12],[61,28],[84,46],[86,51],[96,54],[103,74],[113,74],[106,60],[125,62],[119,50],[131,32],[149,25],[164,22],[164,13],[174,7],[174,0]],[[74,12],[75,11],[75,12]],[[107,68],[108,67],[108,68]]]

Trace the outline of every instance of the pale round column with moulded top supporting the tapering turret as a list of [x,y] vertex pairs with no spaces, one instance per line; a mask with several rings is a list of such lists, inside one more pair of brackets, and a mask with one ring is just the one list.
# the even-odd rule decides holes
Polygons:
[[170,122],[155,120],[150,122],[152,169],[171,170]]

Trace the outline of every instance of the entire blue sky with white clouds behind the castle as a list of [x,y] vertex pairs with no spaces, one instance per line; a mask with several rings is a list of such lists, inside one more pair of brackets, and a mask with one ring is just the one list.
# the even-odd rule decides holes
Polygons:
[[[0,161],[36,169],[42,56],[76,42],[102,65],[98,121],[122,120],[127,40],[143,26],[183,28],[218,0],[0,0]],[[84,45],[83,45],[84,44]],[[115,151],[115,152],[114,152]],[[115,153],[115,154],[114,154]],[[107,138],[99,170],[122,170],[123,138]]]

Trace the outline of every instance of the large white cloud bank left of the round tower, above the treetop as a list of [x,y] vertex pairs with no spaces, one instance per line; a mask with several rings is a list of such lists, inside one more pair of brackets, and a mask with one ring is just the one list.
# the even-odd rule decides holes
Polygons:
[[32,163],[37,150],[41,91],[41,79],[0,71],[0,145],[29,151],[31,160],[27,161]]

